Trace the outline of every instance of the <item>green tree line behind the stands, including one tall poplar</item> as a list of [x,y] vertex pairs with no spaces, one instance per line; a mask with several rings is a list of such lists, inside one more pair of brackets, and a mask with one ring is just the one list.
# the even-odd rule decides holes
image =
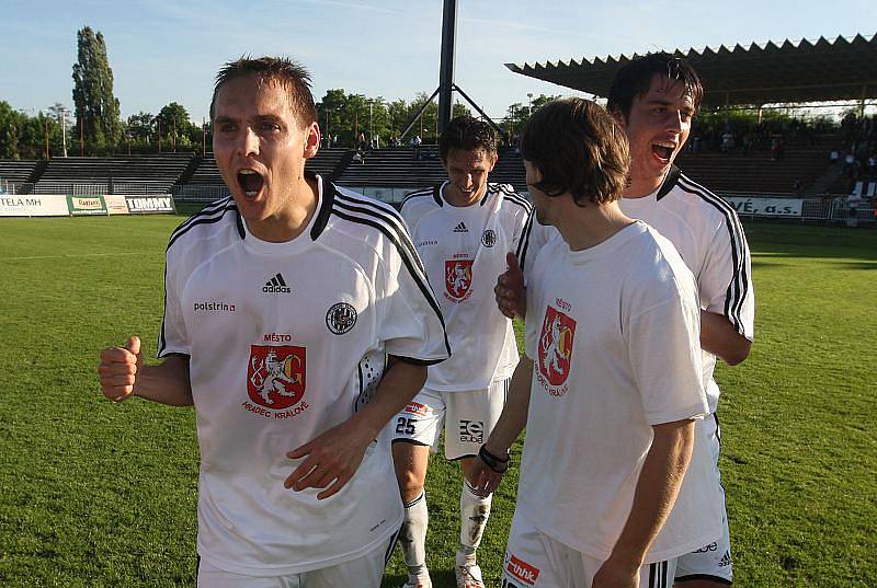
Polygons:
[[[15,109],[0,101],[0,159],[49,159],[64,155],[113,153],[159,153],[208,151],[212,126],[197,124],[179,103],[171,102],[157,114],[140,112],[123,119],[113,93],[113,70],[106,43],[100,32],[86,26],[77,32],[77,62],[73,64],[73,109],[56,103],[45,112]],[[420,92],[412,101],[371,97],[328,90],[317,112],[323,146],[354,147],[362,139],[380,147],[407,142],[420,136],[434,143],[438,135],[438,104]],[[503,138],[513,141],[529,113],[556,96],[539,95],[527,104],[508,107],[498,122]],[[429,104],[426,104],[429,101]],[[425,104],[425,107],[424,107]],[[472,115],[457,102],[452,116]],[[412,124],[413,123],[413,124]],[[406,128],[410,130],[402,136]]]

